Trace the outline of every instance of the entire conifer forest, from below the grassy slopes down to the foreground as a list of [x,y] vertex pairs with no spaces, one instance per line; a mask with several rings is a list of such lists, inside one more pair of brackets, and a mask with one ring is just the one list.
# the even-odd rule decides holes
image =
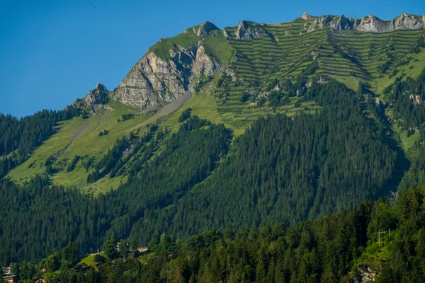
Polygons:
[[[271,91],[273,114],[239,136],[187,108],[174,131],[157,121],[96,161],[69,160],[86,183],[121,178],[117,190],[54,185],[50,159],[25,183],[1,178],[0,262],[28,282],[348,282],[365,270],[378,282],[424,281],[425,70],[378,101],[316,69]],[[276,112],[293,98],[319,108]],[[79,115],[1,115],[0,176]],[[404,150],[395,129],[418,139]],[[137,253],[141,244],[149,251]],[[79,260],[91,250],[103,253],[87,267]]]

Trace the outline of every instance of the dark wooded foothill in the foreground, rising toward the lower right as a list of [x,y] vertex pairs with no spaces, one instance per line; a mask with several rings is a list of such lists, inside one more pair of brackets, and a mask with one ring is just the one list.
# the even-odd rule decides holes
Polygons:
[[23,282],[36,275],[48,282],[353,282],[372,275],[375,282],[424,282],[424,200],[418,187],[395,204],[364,202],[290,227],[227,226],[184,241],[162,234],[142,253],[132,240],[109,240],[81,260],[70,243],[12,270]]

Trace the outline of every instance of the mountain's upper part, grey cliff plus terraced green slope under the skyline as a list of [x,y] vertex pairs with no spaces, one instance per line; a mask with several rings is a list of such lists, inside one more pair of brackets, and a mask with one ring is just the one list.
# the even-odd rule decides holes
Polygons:
[[[305,67],[302,63],[310,59],[317,60],[324,75],[349,86],[356,87],[361,79],[377,85],[376,79],[399,64],[424,35],[424,20],[425,16],[407,13],[392,21],[382,21],[373,15],[355,19],[303,14],[290,23],[242,21],[237,27],[223,30],[205,22],[176,37],[161,39],[149,48],[114,96],[126,105],[143,109],[195,91],[201,75],[214,76],[224,69],[235,79],[261,81],[262,87],[256,86],[261,93],[268,83],[264,80],[266,76],[295,76]],[[393,33],[401,30],[417,33]],[[300,42],[306,44],[300,46]],[[379,62],[388,66],[382,68]]]

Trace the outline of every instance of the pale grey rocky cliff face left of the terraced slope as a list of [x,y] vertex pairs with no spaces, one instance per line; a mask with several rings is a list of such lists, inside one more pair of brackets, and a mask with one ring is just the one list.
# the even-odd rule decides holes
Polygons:
[[[212,28],[209,24],[201,25],[196,32],[210,33]],[[201,43],[202,40],[199,40],[187,48],[174,45],[169,50],[170,59],[162,59],[149,52],[132,67],[115,91],[114,98],[143,109],[183,96],[191,90],[196,76],[212,76],[222,69],[218,62],[205,54]]]

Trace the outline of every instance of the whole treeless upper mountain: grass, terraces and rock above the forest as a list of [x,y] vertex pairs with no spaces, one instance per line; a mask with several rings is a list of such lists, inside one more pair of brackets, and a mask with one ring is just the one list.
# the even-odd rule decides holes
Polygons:
[[[87,178],[117,139],[141,137],[154,124],[176,132],[188,108],[224,124],[234,137],[273,113],[314,115],[321,107],[304,96],[312,81],[336,79],[356,91],[362,82],[365,103],[376,97],[385,103],[384,88],[397,78],[416,78],[425,66],[425,29],[409,28],[403,17],[423,25],[417,16],[402,15],[394,20],[394,26],[401,21],[399,28],[390,30],[389,22],[377,20],[377,29],[364,31],[362,23],[370,17],[305,14],[289,23],[242,21],[220,30],[206,22],[188,28],[149,48],[114,91],[92,91],[79,100],[86,119],[60,122],[57,132],[8,176],[25,183],[48,173],[52,183],[105,192],[125,183],[127,175],[94,183]],[[102,104],[104,98],[108,102]],[[387,111],[388,118],[392,115]],[[404,149],[419,138],[393,129]]]

